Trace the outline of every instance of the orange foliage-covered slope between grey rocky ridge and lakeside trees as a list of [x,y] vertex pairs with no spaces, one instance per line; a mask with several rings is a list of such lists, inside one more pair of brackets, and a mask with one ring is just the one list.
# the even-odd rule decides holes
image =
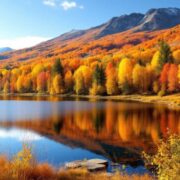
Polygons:
[[23,49],[0,55],[1,67],[12,64],[27,64],[30,62],[52,62],[61,58],[64,63],[76,64],[83,59],[87,62],[113,59],[119,61],[121,57],[128,56],[134,60],[150,62],[153,53],[157,50],[157,42],[165,40],[172,48],[174,58],[179,63],[180,54],[180,25],[171,29],[153,32],[133,32],[133,30],[107,35],[94,39],[95,30],[86,35],[41,43],[33,48]]

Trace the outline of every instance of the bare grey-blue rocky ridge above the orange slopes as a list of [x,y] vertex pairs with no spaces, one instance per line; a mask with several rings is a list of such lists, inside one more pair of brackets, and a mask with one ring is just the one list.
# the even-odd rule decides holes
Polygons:
[[150,9],[146,14],[132,13],[114,17],[107,23],[90,28],[88,30],[71,31],[59,37],[61,40],[68,40],[83,36],[89,32],[96,31],[95,38],[115,34],[134,28],[138,31],[155,31],[167,29],[180,24],[179,8]]

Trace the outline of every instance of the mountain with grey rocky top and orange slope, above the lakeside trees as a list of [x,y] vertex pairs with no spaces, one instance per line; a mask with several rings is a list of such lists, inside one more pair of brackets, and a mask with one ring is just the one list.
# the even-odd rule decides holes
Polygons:
[[[10,51],[0,55],[0,63],[39,61],[60,57],[82,59],[108,55],[127,48],[141,46],[154,48],[157,41],[165,39],[179,46],[180,9],[150,9],[146,14],[132,13],[114,17],[108,22],[86,30],[72,30],[34,47]],[[130,50],[129,50],[130,52]]]

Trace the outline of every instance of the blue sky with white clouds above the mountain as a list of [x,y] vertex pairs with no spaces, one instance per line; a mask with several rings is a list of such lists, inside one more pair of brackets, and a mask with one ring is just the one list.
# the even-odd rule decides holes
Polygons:
[[159,7],[180,8],[180,0],[1,0],[0,47],[28,47],[114,16]]

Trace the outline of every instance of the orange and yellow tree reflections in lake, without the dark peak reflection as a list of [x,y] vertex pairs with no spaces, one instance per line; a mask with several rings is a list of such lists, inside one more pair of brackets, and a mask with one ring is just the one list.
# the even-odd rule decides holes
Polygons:
[[113,101],[105,101],[103,106],[93,102],[83,109],[82,105],[77,105],[70,109],[65,107],[64,111],[55,103],[51,117],[16,124],[25,124],[27,128],[32,126],[47,134],[70,136],[75,133],[77,138],[83,136],[133,147],[157,143],[161,137],[167,136],[167,128],[172,133],[180,133],[180,112],[163,106]]

